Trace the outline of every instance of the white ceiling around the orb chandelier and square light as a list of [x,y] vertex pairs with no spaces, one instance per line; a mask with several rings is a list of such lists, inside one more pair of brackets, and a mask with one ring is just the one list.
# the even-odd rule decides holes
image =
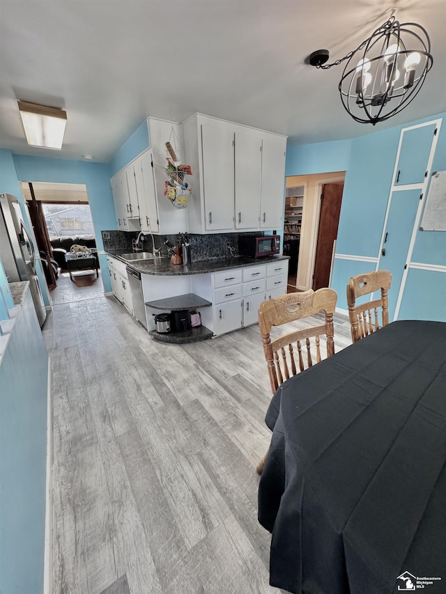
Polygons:
[[[380,0],[0,0],[0,147],[109,162],[146,116],[199,111],[280,132],[292,144],[362,136],[446,110],[446,2],[400,0],[422,24],[433,68],[412,104],[357,124],[315,49],[341,58],[390,17]],[[66,109],[61,152],[30,148],[17,100]]]

